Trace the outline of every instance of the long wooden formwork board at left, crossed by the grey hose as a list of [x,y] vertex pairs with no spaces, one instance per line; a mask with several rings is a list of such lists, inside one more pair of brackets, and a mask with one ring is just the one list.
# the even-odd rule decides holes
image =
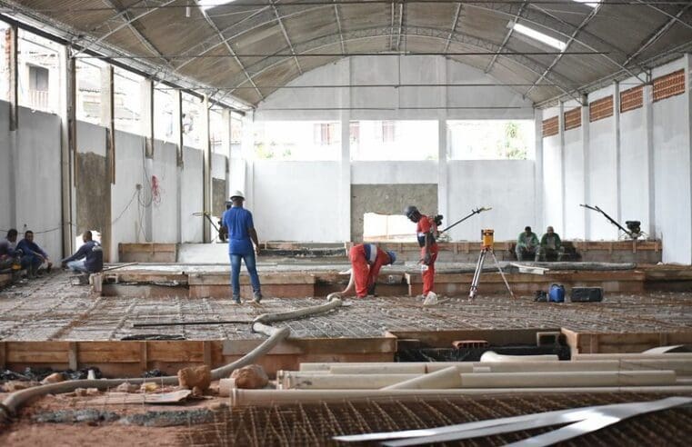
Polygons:
[[[132,377],[156,368],[175,375],[186,366],[208,364],[217,368],[232,363],[260,343],[262,340],[0,342],[0,368],[97,367],[108,376]],[[289,339],[258,363],[267,373],[275,374],[278,369],[297,370],[302,362],[391,362],[395,352],[396,340],[390,337]]]

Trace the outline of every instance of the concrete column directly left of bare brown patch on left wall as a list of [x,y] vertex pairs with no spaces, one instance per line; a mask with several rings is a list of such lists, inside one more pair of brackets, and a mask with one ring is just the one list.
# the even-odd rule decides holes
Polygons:
[[63,208],[63,256],[73,253],[75,246],[76,210],[76,67],[70,48],[60,52],[60,166]]

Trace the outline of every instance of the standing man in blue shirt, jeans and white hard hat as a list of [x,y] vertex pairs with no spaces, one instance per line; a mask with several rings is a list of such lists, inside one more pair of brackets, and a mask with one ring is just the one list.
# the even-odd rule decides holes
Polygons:
[[[231,258],[231,286],[233,287],[233,301],[240,303],[240,261],[246,263],[247,273],[250,273],[255,302],[262,300],[259,286],[259,275],[255,254],[259,254],[259,242],[255,224],[252,221],[252,213],[243,208],[245,194],[236,191],[231,195],[233,206],[226,210],[222,219],[223,226],[228,230],[228,255]],[[253,244],[255,248],[253,249]]]

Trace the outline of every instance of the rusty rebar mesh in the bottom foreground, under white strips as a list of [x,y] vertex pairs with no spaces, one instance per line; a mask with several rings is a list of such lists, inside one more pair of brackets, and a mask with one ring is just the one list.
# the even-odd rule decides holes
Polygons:
[[[590,405],[656,400],[655,394],[607,393],[532,396],[468,396],[412,401],[323,402],[240,407],[216,412],[215,422],[180,433],[189,446],[339,445],[340,434],[389,432],[548,412]],[[450,445],[504,445],[557,427],[476,438]],[[692,408],[680,407],[628,419],[565,445],[687,446]],[[444,445],[444,444],[443,444]]]

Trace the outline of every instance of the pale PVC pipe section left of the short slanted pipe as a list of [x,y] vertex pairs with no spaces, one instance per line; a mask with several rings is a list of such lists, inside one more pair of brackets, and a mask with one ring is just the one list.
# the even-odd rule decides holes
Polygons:
[[284,373],[276,379],[284,390],[378,390],[419,374],[305,374]]

